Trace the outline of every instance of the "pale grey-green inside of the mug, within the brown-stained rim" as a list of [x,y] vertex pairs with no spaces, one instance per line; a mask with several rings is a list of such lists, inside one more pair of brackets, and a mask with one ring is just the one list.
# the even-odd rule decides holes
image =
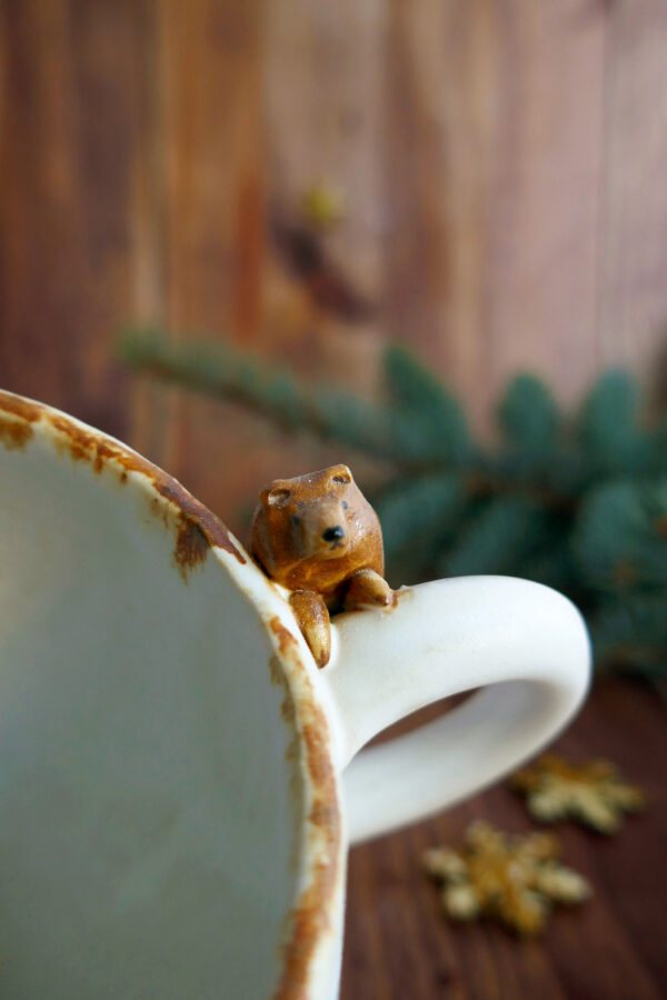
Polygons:
[[28,438],[0,442],[0,993],[271,996],[307,791],[270,629],[145,476]]

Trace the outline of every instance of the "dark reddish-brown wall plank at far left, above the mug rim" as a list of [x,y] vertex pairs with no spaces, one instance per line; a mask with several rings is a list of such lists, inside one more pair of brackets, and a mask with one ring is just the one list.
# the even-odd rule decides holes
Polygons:
[[133,12],[28,0],[0,22],[2,381],[125,433]]

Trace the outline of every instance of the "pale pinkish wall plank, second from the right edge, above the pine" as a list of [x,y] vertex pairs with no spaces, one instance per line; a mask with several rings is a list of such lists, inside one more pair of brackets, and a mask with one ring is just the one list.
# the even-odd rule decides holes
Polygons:
[[579,0],[512,2],[499,26],[488,202],[494,393],[522,368],[547,376],[571,404],[597,368],[607,31],[605,6]]

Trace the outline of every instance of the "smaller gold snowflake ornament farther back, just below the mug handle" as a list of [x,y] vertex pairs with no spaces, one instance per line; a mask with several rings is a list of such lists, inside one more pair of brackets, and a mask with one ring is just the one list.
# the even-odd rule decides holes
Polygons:
[[547,753],[518,771],[511,784],[526,796],[535,819],[576,819],[599,833],[616,832],[624,812],[637,812],[644,806],[640,790],[623,781],[608,760],[570,764]]

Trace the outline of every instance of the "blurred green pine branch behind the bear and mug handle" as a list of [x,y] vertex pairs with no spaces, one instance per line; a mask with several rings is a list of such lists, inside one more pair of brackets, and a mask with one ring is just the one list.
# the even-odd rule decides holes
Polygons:
[[667,690],[667,416],[643,426],[626,373],[603,376],[570,420],[539,380],[518,377],[491,448],[404,349],[386,352],[382,402],[157,331],[128,334],[121,353],[138,371],[389,462],[376,507],[395,586],[498,572],[558,587],[586,613],[601,664],[629,663]]

